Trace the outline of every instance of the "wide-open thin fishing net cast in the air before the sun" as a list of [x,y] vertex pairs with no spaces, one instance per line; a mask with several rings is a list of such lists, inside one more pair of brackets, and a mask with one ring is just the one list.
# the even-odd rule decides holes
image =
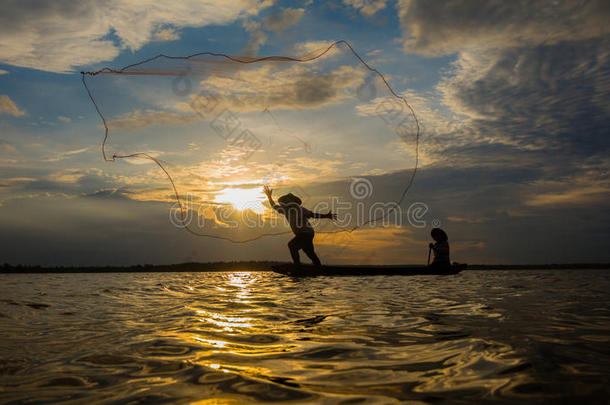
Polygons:
[[[317,232],[400,224],[417,169],[407,100],[344,41],[299,56],[200,53],[84,72],[123,195],[170,222],[245,242],[290,232],[262,192],[337,213]],[[168,223],[168,226],[169,223]]]

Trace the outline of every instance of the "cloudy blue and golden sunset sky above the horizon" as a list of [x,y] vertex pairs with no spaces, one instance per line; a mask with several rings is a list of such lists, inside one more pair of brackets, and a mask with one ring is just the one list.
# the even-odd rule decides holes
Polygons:
[[[350,206],[342,221],[315,224],[326,263],[424,263],[435,226],[460,262],[610,262],[608,2],[0,8],[0,262],[289,260],[287,225],[263,184],[321,212]],[[332,46],[339,40],[362,61],[345,43]],[[109,127],[106,161],[80,72],[198,52],[320,57],[161,59],[89,76]],[[216,110],[194,107],[204,94]],[[401,104],[405,132],[380,112],[387,101],[412,107]],[[255,142],[225,136],[215,126],[223,111]],[[147,158],[112,161],[137,152],[167,174]],[[189,229],[202,235],[184,229],[168,175],[182,203],[196,206]],[[396,202],[389,222],[345,232],[374,219],[374,204]],[[244,227],[244,216],[257,226]]]

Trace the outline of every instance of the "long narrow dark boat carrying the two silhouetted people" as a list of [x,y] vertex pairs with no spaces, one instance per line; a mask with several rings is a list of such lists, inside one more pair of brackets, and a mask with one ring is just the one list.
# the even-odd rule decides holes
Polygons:
[[447,268],[432,268],[427,266],[368,266],[368,265],[346,265],[346,266],[321,266],[292,263],[271,266],[276,273],[292,277],[314,277],[314,276],[427,276],[427,275],[452,275],[458,274],[466,269],[467,264],[453,263]]

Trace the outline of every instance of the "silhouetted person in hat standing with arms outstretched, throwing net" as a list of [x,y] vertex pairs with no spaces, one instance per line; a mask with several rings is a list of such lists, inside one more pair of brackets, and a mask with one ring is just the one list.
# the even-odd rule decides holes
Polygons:
[[327,214],[319,214],[311,212],[307,208],[301,205],[301,199],[292,193],[285,194],[278,198],[278,203],[273,201],[272,193],[273,190],[269,186],[264,186],[263,191],[269,199],[271,207],[286,216],[290,229],[294,233],[294,238],[288,242],[288,248],[290,249],[290,255],[295,265],[301,264],[299,257],[299,250],[303,250],[305,254],[311,259],[311,262],[316,266],[321,266],[320,259],[313,248],[313,238],[315,232],[313,227],[309,223],[309,218],[327,218],[336,219],[337,215],[332,212]]

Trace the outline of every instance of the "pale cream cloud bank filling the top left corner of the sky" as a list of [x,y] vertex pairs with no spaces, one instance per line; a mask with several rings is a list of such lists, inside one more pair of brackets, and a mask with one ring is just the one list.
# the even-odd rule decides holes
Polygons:
[[123,49],[138,50],[162,26],[228,24],[271,4],[269,0],[6,0],[0,14],[0,62],[70,72],[76,66],[113,60]]

